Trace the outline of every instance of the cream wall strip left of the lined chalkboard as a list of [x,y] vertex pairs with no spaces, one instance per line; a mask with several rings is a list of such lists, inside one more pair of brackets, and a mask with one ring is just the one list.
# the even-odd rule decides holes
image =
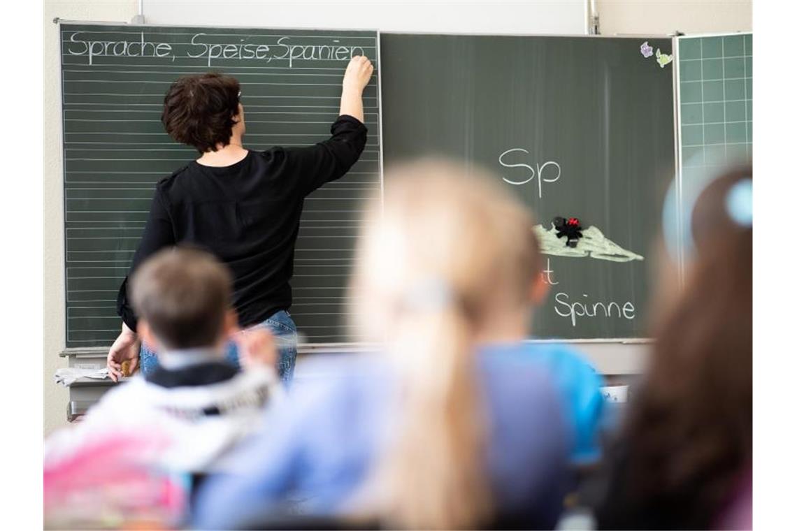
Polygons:
[[136,0],[56,2],[45,0],[45,435],[66,424],[69,392],[53,383],[66,365],[64,349],[64,194],[61,161],[61,73],[58,25],[53,18],[128,22],[138,13]]

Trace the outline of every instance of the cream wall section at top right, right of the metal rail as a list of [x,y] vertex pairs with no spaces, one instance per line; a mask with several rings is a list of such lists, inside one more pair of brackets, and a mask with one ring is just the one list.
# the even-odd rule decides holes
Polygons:
[[751,0],[597,0],[600,33],[752,31]]

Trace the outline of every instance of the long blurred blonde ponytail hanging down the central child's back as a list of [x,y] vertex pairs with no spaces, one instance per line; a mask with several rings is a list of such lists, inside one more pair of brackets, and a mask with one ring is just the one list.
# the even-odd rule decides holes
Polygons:
[[407,529],[473,528],[492,512],[481,393],[469,323],[455,303],[422,312],[409,333],[413,364],[402,386],[402,429],[380,482],[387,523]]

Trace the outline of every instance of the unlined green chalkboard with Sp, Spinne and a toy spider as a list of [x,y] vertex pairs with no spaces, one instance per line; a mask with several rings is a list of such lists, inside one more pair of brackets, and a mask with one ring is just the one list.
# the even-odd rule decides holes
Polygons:
[[646,337],[675,172],[672,41],[382,33],[380,42],[386,172],[424,154],[465,159],[520,197],[540,232],[578,217],[590,238],[571,254],[585,256],[560,256],[563,240],[540,233],[552,285],[534,333]]

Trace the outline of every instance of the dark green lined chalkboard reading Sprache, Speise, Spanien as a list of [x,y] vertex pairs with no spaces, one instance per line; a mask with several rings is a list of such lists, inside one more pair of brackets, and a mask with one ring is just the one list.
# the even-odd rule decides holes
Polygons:
[[155,182],[196,157],[159,121],[173,81],[236,76],[246,146],[304,146],[328,137],[344,68],[361,54],[377,72],[364,92],[367,147],[345,178],[307,198],[296,244],[291,313],[316,343],[344,339],[361,198],[381,186],[376,33],[62,24],[66,346],[116,338],[116,292]]

